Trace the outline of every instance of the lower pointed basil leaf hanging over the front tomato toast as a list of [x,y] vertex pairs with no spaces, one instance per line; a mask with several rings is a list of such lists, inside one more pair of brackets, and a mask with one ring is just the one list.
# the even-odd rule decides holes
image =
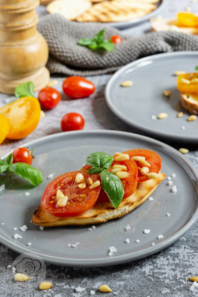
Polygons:
[[113,206],[118,208],[124,196],[124,188],[120,178],[104,170],[101,172],[100,178],[102,189],[104,189]]

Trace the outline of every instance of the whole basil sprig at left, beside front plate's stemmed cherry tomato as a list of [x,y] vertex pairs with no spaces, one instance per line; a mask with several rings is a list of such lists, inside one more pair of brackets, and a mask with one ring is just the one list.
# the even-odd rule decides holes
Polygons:
[[25,178],[27,181],[30,181],[34,187],[38,186],[42,183],[42,173],[37,169],[34,168],[26,163],[13,162],[13,155],[12,153],[7,156],[5,162],[0,159],[0,173],[8,170],[9,176],[11,175],[11,171],[18,176]]

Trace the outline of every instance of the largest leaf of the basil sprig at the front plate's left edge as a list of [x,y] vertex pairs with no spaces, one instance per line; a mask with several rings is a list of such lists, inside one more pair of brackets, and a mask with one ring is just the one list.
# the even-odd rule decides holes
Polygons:
[[34,167],[22,162],[14,163],[9,166],[9,169],[18,176],[30,181],[35,187],[42,182],[41,172]]

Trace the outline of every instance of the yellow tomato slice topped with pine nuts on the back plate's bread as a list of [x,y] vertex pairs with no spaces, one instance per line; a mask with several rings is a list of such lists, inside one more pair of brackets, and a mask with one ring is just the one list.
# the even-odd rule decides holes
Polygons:
[[[187,80],[192,80],[193,78],[198,78],[197,77],[198,73],[186,73],[178,76],[177,79],[177,88],[180,92],[182,93],[197,93],[198,92],[198,83],[182,83],[181,79],[185,78]],[[0,111],[1,112],[1,111]]]

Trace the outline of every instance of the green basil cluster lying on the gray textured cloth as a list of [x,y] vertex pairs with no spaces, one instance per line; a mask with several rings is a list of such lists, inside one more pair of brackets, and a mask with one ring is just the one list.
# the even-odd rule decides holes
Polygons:
[[104,39],[104,29],[98,32],[93,39],[82,38],[78,41],[79,45],[88,46],[92,50],[105,49],[110,52],[113,51],[114,43],[108,39]]

